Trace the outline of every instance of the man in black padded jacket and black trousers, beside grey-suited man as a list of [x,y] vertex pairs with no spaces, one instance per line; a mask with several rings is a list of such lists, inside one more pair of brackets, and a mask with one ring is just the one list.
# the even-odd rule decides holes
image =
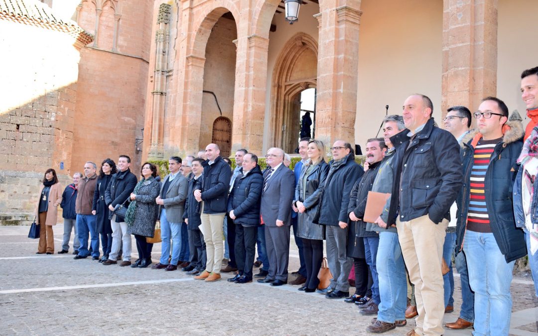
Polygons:
[[256,255],[256,234],[260,225],[260,197],[264,178],[258,166],[258,156],[243,156],[242,168],[228,196],[228,211],[235,223],[235,256],[239,273],[230,282],[252,281],[252,266]]

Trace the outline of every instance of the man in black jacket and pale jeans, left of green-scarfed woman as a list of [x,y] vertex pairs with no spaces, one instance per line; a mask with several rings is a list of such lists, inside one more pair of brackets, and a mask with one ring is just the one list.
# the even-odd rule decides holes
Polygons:
[[[118,172],[112,176],[105,191],[105,202],[107,202],[110,213],[114,211],[116,206],[124,204],[129,198],[131,192],[137,184],[136,175],[131,173],[131,158],[127,155],[120,155],[118,159]],[[125,202],[125,206],[128,203]],[[107,261],[103,265],[111,265],[117,263],[119,250],[123,251],[123,261],[119,266],[129,266],[131,264],[131,235],[127,233],[127,223],[120,221],[115,214],[110,218],[110,226],[112,226],[112,250]],[[123,246],[122,246],[123,242]]]

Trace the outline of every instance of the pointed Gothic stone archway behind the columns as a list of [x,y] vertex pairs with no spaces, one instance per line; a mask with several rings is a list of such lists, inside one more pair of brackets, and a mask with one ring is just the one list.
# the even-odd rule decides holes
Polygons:
[[317,86],[317,42],[298,33],[288,40],[273,70],[269,144],[291,153],[300,132],[301,91]]

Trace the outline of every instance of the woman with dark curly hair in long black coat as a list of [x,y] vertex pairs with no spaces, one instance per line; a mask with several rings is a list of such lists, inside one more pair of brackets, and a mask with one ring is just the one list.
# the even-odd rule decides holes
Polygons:
[[107,190],[110,178],[117,172],[116,163],[111,159],[105,159],[101,163],[101,170],[99,171],[99,177],[97,177],[91,213],[97,215],[97,232],[101,234],[101,246],[103,246],[103,258],[99,262],[107,261],[112,249],[112,227],[108,218],[107,202],[104,201],[104,192]]

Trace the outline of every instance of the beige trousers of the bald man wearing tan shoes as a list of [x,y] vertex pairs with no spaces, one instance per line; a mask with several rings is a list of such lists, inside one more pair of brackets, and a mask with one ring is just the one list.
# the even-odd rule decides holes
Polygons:
[[224,236],[222,231],[222,223],[224,223],[225,213],[208,214],[202,210],[200,220],[202,224],[199,226],[203,234],[203,240],[206,242],[207,263],[206,270],[211,273],[220,274],[222,267],[222,258],[224,256]]

